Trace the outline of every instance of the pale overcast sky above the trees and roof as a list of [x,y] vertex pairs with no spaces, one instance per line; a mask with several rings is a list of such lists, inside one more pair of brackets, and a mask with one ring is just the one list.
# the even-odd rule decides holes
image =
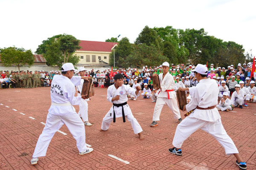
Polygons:
[[255,0],[0,0],[0,7],[0,48],[35,52],[63,33],[90,41],[121,34],[133,43],[147,25],[204,28],[256,55]]

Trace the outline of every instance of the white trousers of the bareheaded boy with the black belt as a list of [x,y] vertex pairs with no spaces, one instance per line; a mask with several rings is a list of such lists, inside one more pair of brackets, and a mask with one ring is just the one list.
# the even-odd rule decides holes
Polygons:
[[[124,105],[123,107],[125,111],[125,120],[128,120],[131,123],[131,127],[134,130],[134,134],[138,134],[142,132],[143,130],[139,122],[137,121],[137,119],[131,113],[131,109],[127,108],[127,105]],[[122,107],[119,107],[119,108],[115,107],[115,113],[116,113],[116,118],[120,117],[118,115],[120,115],[120,113],[122,115]],[[102,130],[108,130],[108,128],[110,127],[110,123],[112,121],[113,121],[113,107],[110,109],[110,111],[105,115],[105,117],[102,120]],[[122,118],[118,119],[118,121],[122,121]],[[116,119],[116,122],[117,122],[117,119]]]

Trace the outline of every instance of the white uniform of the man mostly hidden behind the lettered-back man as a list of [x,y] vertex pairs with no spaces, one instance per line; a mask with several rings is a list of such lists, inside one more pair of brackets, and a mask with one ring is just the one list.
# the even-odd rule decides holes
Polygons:
[[[81,79],[81,84],[76,86],[77,91],[81,93],[82,88],[84,84],[84,79]],[[87,101],[90,101],[90,99],[81,99],[80,105],[79,105],[79,117],[82,117],[84,122],[88,121],[88,103]]]

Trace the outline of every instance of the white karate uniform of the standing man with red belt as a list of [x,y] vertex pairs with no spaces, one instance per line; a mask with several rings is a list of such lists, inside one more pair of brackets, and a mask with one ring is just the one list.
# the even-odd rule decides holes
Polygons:
[[[167,105],[173,112],[175,119],[180,119],[180,110],[177,105],[177,97],[175,91],[166,90],[174,90],[175,81],[169,72],[163,78],[163,73],[159,74],[160,81],[160,93],[157,97],[157,102],[154,107],[153,121],[160,120],[160,113],[162,111],[163,105]],[[169,94],[169,95],[168,95]]]

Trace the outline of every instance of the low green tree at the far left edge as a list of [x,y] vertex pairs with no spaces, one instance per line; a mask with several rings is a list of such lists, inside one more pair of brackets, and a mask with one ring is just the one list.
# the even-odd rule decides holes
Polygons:
[[28,65],[30,67],[35,61],[31,50],[25,50],[24,48],[4,48],[0,50],[0,54],[4,66],[17,65],[19,71],[20,66]]

